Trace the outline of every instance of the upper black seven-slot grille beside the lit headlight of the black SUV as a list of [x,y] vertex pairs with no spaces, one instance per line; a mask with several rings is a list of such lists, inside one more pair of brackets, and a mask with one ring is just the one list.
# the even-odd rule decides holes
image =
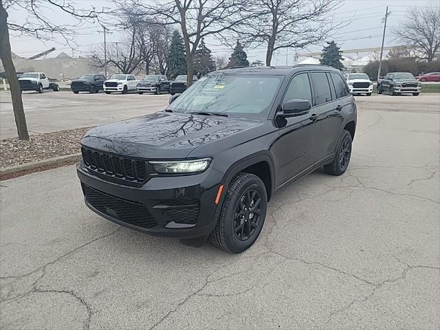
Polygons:
[[144,160],[115,156],[84,146],[81,147],[81,154],[84,164],[89,170],[131,182],[142,183],[146,180],[147,172]]

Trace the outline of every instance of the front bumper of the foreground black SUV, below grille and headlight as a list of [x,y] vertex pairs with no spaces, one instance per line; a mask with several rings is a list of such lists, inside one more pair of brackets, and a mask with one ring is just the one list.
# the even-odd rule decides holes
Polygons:
[[217,223],[220,207],[214,201],[223,173],[214,168],[197,175],[151,177],[137,187],[104,180],[83,161],[77,173],[86,205],[127,228],[191,239],[207,236]]

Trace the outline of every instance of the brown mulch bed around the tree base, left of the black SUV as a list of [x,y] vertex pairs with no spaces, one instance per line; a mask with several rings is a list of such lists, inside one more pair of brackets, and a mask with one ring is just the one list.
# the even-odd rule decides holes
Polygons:
[[83,127],[31,135],[30,141],[21,141],[18,138],[0,140],[0,167],[79,153],[79,141],[89,129]]

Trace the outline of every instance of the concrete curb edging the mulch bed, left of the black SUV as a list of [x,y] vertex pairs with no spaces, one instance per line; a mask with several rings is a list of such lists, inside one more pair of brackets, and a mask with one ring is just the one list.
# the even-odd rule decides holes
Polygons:
[[42,170],[49,170],[60,166],[72,165],[78,162],[81,153],[74,153],[73,155],[64,155],[53,157],[49,159],[39,160],[37,162],[30,162],[26,164],[0,167],[0,180],[12,179],[13,177],[21,177],[34,172]]

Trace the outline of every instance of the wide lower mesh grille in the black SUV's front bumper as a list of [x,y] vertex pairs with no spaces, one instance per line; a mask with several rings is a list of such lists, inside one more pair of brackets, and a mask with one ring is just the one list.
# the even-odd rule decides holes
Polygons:
[[144,204],[109,195],[85,184],[82,186],[87,203],[109,217],[141,228],[153,228],[157,225]]

